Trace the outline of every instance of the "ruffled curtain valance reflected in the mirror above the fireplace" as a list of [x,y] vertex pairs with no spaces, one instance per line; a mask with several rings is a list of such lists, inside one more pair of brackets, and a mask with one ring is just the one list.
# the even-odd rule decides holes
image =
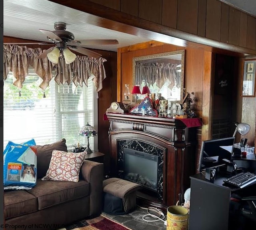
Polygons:
[[177,64],[171,63],[139,63],[135,64],[135,84],[141,85],[143,80],[145,84],[154,85],[162,88],[164,83],[168,80],[168,88],[172,89],[174,86],[180,88],[181,73],[177,72]]

